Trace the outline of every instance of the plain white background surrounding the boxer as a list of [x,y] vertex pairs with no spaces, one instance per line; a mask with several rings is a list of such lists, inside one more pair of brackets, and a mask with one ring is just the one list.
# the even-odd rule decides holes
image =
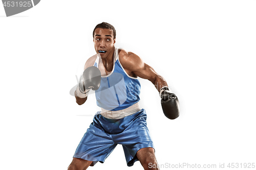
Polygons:
[[[154,85],[140,79],[159,164],[255,162],[255,7],[43,0],[6,17],[0,6],[1,169],[67,169],[99,110],[93,94],[78,106],[69,91],[95,54],[92,31],[102,21],[116,28],[116,46],[138,54],[179,97],[180,117],[169,120]],[[118,145],[90,167],[102,168],[142,166],[127,167]]]

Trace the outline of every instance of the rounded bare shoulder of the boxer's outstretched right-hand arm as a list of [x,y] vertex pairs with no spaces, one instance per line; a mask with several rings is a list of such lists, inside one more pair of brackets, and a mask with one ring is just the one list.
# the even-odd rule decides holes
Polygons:
[[127,70],[136,71],[144,66],[142,59],[132,52],[121,49],[118,55],[120,63]]

